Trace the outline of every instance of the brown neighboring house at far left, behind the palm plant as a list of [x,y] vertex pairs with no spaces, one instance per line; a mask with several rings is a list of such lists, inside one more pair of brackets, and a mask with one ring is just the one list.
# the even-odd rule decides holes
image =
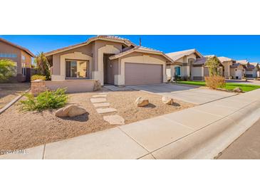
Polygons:
[[0,60],[10,59],[16,63],[16,80],[26,81],[26,68],[31,68],[33,53],[28,49],[0,38]]

